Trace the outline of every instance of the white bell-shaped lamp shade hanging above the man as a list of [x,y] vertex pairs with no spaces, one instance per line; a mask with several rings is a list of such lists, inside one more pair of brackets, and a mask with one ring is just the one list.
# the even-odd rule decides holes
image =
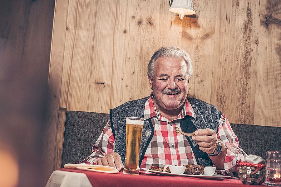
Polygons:
[[192,0],[170,0],[171,7],[169,11],[179,14],[182,20],[185,15],[195,14]]

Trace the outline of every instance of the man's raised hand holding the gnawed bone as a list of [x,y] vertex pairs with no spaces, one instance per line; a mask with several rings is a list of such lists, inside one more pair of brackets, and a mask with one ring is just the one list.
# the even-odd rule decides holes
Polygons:
[[198,129],[192,139],[196,141],[199,149],[206,153],[213,153],[218,146],[217,134],[213,129]]

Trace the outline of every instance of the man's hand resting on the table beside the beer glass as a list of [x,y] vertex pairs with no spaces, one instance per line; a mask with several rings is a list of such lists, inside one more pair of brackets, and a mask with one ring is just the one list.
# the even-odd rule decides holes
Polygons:
[[124,167],[120,155],[116,152],[110,153],[100,158],[97,161],[97,165],[115,167],[118,171],[120,171],[121,168]]

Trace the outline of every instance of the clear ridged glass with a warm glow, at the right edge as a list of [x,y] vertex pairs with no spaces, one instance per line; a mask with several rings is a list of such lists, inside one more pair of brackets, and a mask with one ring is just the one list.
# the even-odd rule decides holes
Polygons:
[[266,152],[266,174],[264,185],[281,186],[280,159],[280,151]]

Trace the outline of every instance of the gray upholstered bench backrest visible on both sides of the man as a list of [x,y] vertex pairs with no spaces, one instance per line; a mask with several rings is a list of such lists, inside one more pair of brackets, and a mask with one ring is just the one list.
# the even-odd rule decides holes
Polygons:
[[[77,163],[91,153],[91,148],[110,119],[109,114],[68,111],[66,115],[62,167]],[[280,127],[231,124],[240,146],[247,154],[265,158],[267,150],[280,151]]]

